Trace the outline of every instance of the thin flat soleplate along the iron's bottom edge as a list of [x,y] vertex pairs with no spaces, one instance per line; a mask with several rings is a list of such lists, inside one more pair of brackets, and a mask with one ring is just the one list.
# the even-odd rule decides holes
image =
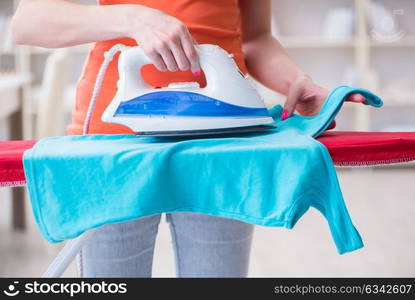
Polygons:
[[182,131],[143,131],[137,132],[138,136],[193,136],[193,135],[219,135],[229,133],[245,133],[262,131],[268,129],[274,129],[272,125],[254,125],[245,127],[234,127],[234,128],[218,128],[218,129],[206,129],[206,130],[182,130]]

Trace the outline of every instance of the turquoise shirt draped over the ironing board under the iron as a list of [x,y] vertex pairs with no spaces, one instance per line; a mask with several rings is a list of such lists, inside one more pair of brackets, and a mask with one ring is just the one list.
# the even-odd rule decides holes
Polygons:
[[327,219],[340,254],[363,247],[327,149],[313,137],[347,95],[382,101],[363,89],[336,88],[315,117],[281,121],[260,133],[193,138],[63,136],[24,154],[36,221],[50,242],[106,223],[163,212],[199,212],[292,228],[310,208]]

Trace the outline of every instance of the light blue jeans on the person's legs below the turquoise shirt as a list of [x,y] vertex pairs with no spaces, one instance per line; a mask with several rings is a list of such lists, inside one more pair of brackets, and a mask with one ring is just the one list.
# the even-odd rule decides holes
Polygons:
[[[78,255],[80,277],[151,277],[161,215],[106,224]],[[246,277],[254,226],[198,213],[169,213],[178,277]]]

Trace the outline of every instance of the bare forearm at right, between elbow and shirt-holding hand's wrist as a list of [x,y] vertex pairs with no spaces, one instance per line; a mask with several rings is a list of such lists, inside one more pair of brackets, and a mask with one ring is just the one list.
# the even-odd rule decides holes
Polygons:
[[243,51],[249,73],[263,85],[283,95],[288,95],[295,80],[306,76],[269,33],[244,42]]

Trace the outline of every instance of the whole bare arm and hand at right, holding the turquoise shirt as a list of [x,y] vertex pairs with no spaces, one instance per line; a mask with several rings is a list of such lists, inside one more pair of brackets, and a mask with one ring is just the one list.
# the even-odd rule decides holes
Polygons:
[[[239,0],[243,51],[250,74],[270,89],[287,96],[283,119],[295,109],[302,115],[319,112],[328,91],[316,85],[288,56],[271,34],[271,1]],[[348,101],[362,102],[360,95]]]

